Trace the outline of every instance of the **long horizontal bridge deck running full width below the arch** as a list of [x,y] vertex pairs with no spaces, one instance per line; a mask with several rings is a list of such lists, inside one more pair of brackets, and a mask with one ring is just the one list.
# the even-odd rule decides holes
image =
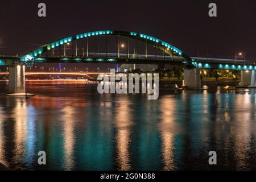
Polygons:
[[[31,63],[30,63],[31,62]],[[9,66],[13,67],[15,63],[23,64],[23,61],[20,61],[18,57],[8,57],[1,59],[0,57],[0,66]],[[33,61],[29,61],[26,64],[35,64],[35,63],[103,63],[103,64],[166,64],[166,65],[183,65],[186,68],[200,68],[200,69],[230,69],[238,71],[256,71],[256,65],[244,65],[244,64],[234,64],[234,63],[197,63],[181,60],[179,57],[176,59],[148,59],[148,58],[125,58],[125,57],[37,57]]]

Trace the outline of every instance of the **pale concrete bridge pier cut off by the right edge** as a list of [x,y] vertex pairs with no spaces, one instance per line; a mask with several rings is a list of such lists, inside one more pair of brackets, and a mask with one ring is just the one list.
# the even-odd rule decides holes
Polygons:
[[[256,88],[255,71],[242,71],[240,87]],[[239,87],[238,86],[238,87]]]

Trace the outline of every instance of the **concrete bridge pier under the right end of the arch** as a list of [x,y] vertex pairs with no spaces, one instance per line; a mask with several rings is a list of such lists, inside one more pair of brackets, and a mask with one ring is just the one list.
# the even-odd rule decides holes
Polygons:
[[201,89],[200,69],[184,69],[183,88]]

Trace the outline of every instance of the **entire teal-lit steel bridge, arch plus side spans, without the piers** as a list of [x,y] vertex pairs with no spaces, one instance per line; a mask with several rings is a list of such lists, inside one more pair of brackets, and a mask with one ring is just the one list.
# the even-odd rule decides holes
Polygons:
[[[96,38],[97,36],[105,36],[106,45],[109,44],[109,36],[117,36],[117,51],[110,53],[109,48],[106,51],[101,52],[89,52],[88,51],[88,38]],[[120,53],[119,37],[126,38],[126,53]],[[77,53],[77,40],[84,39],[83,53],[79,55]],[[137,47],[134,53],[129,51],[129,40],[135,40]],[[73,42],[75,42],[75,53],[73,53]],[[138,53],[138,42],[146,44],[145,55]],[[66,54],[66,45],[72,44],[72,55]],[[147,45],[154,47],[163,52],[163,55],[149,55],[147,53]],[[64,51],[61,52],[63,50]],[[85,48],[86,47],[86,48]],[[106,46],[107,47],[107,46]],[[55,51],[59,49],[59,54]],[[86,51],[85,51],[86,49]],[[52,52],[52,53],[48,53]],[[218,59],[221,60],[221,59]],[[117,63],[117,64],[172,64],[172,65],[184,65],[187,68],[203,68],[203,69],[232,69],[232,70],[256,70],[256,66],[253,64],[243,63],[231,63],[229,61],[210,61],[207,60],[194,60],[185,54],[181,49],[172,46],[171,44],[164,42],[158,38],[150,35],[140,34],[137,32],[127,31],[93,31],[85,32],[83,34],[77,34],[69,36],[64,39],[57,40],[40,46],[31,52],[24,55],[0,55],[0,65],[13,65],[14,62],[22,62],[28,66],[34,63]]]

